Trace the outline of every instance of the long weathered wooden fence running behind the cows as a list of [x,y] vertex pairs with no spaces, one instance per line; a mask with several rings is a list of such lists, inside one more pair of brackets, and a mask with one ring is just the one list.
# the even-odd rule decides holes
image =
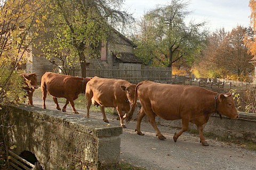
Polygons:
[[[73,76],[81,76],[79,67],[74,67],[71,71]],[[247,88],[256,88],[255,83],[231,81],[224,79],[192,79],[179,75],[171,76],[171,69],[169,67],[149,67],[141,66],[129,67],[126,69],[86,69],[87,77],[98,76],[108,79],[123,79],[129,82],[138,83],[144,80],[150,80],[160,83],[170,84],[185,84],[190,86],[199,86],[207,89],[228,91],[230,89],[245,90]]]

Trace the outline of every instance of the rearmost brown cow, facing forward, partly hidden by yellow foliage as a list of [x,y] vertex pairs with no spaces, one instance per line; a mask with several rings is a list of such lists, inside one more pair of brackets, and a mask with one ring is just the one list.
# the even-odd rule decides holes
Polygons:
[[28,99],[27,104],[32,106],[33,105],[33,99],[32,99],[33,92],[35,91],[35,89],[38,88],[37,75],[36,75],[36,73],[24,73],[24,74],[21,74],[21,76],[25,80],[25,86],[22,89],[26,90],[26,92],[27,92],[27,99]]

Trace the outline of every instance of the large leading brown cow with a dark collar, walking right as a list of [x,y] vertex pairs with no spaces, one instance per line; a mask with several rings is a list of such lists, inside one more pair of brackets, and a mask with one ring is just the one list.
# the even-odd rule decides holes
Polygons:
[[140,123],[142,118],[147,115],[156,131],[156,136],[161,140],[164,140],[165,137],[156,126],[156,116],[165,120],[182,120],[181,130],[173,136],[175,142],[183,132],[187,131],[189,122],[196,124],[203,146],[209,146],[203,135],[203,125],[207,123],[211,113],[217,112],[233,119],[239,117],[229,92],[218,94],[201,87],[142,81],[135,89],[135,100],[127,114],[126,121],[128,122],[134,112],[137,97],[141,103],[141,111],[135,131],[139,135],[143,135],[140,131]]

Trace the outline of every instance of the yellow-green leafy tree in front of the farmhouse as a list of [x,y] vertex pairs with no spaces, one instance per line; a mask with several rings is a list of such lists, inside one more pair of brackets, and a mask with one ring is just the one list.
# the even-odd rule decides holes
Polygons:
[[100,55],[111,28],[132,21],[131,15],[119,11],[122,0],[53,0],[48,6],[45,33],[41,41],[47,58],[59,57],[67,64],[81,65],[86,77],[86,60]]

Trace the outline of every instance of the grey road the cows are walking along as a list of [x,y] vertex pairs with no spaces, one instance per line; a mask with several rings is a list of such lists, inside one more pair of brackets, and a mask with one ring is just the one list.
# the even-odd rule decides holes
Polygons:
[[[42,99],[33,98],[34,106],[42,107]],[[62,107],[63,104],[60,104]],[[46,100],[47,109],[54,109],[53,100]],[[86,116],[86,108],[78,112]],[[71,106],[67,107],[67,114],[71,113]],[[59,111],[60,112],[60,111]],[[91,118],[102,121],[101,113],[90,112]],[[107,115],[110,124],[119,125],[116,116]],[[154,129],[149,123],[142,122],[141,131],[144,136],[134,132],[135,121],[126,124],[121,135],[121,159],[135,166],[148,170],[167,169],[256,169],[256,151],[243,149],[236,145],[226,145],[217,140],[206,139],[209,147],[199,143],[197,135],[183,133],[178,141],[173,141],[174,128],[158,125],[159,130],[166,137],[161,141],[155,136]]]

